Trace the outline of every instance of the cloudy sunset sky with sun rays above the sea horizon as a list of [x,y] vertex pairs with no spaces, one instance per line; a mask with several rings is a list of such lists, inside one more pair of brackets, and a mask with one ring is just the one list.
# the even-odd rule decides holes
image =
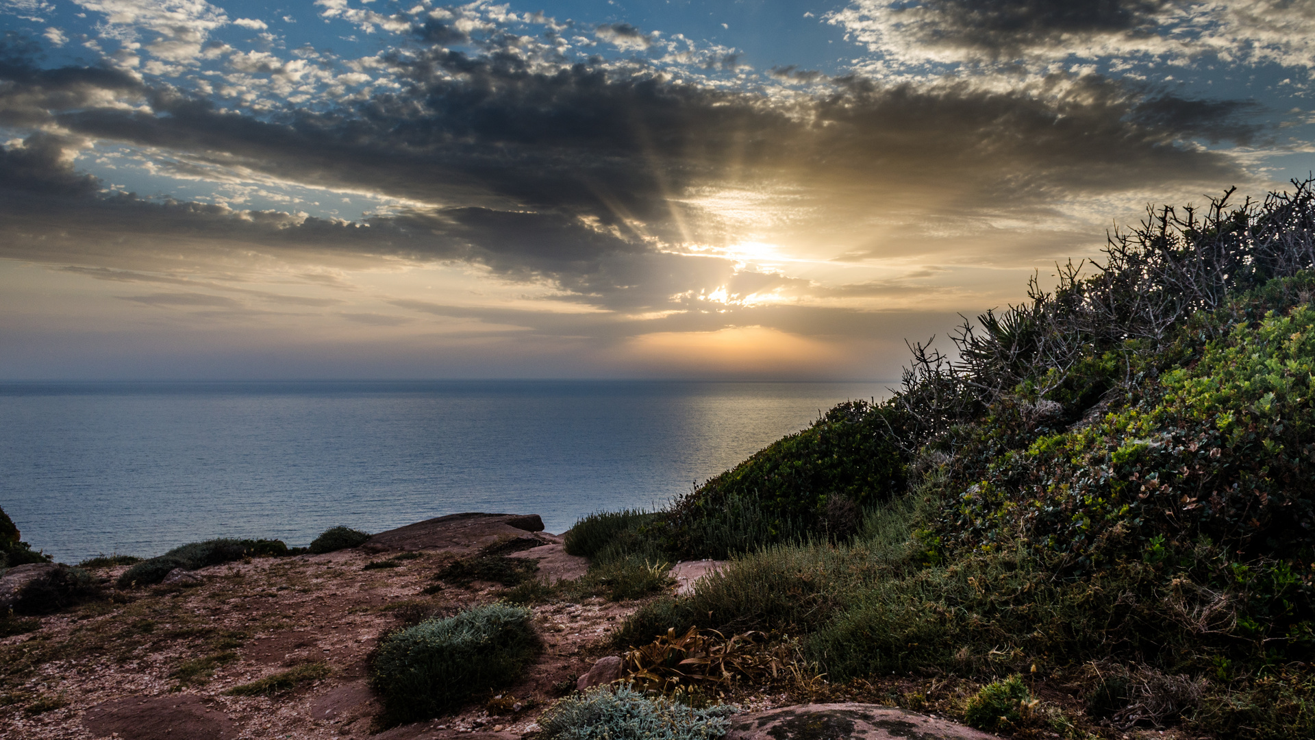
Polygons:
[[0,0],[0,379],[885,379],[1315,170],[1315,0]]

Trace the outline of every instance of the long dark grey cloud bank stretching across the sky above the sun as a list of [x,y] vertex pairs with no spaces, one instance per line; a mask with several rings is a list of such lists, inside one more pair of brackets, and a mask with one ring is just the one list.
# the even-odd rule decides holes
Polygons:
[[[1116,22],[1110,13],[1101,22]],[[1044,208],[1057,195],[1228,183],[1243,175],[1228,157],[1181,140],[1255,136],[1239,122],[1245,104],[1095,75],[1056,74],[1007,92],[849,76],[825,95],[776,101],[635,68],[546,72],[510,51],[423,47],[388,63],[398,91],[263,117],[120,72],[8,63],[3,120],[58,126],[66,138],[33,134],[4,150],[0,220],[11,237],[0,254],[87,263],[79,253],[196,244],[463,261],[640,309],[688,290],[692,271],[725,271],[659,258],[654,244],[714,238],[682,196],[732,174],[790,183],[836,215],[893,200],[928,215],[998,212],[1024,196]],[[245,167],[434,205],[345,224],[96,195],[96,183],[60,159],[79,137],[158,147],[192,172]]]

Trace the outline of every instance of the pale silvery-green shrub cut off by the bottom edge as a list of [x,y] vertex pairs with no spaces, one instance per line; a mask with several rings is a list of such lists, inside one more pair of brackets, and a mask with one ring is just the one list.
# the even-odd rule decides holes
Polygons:
[[726,736],[739,707],[692,708],[647,698],[626,687],[605,687],[558,702],[542,718],[546,740],[713,740]]

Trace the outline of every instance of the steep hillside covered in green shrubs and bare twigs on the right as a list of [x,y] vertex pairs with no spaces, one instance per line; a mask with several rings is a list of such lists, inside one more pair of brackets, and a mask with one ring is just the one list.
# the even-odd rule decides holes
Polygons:
[[[605,561],[735,556],[617,633],[802,635],[843,681],[1022,673],[1093,722],[1315,736],[1315,192],[1161,208],[1099,263],[923,345]],[[1007,682],[1001,686],[1009,685]],[[988,723],[989,724],[989,723]]]

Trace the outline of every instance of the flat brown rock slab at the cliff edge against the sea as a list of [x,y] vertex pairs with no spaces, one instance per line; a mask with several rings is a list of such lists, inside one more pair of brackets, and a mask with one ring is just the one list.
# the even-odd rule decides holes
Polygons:
[[[538,514],[450,514],[380,532],[366,540],[360,549],[371,553],[448,550],[466,556],[500,541],[525,537],[526,532],[542,531],[543,520]],[[540,539],[548,542],[550,537]]]

